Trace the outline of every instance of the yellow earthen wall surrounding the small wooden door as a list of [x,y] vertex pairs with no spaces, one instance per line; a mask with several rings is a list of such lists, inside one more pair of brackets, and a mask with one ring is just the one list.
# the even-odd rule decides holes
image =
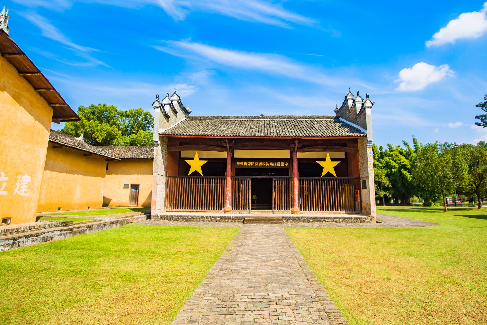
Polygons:
[[[129,184],[129,188],[123,188]],[[149,207],[152,198],[152,160],[122,159],[108,163],[103,206],[128,206],[130,184],[139,184],[138,206]]]

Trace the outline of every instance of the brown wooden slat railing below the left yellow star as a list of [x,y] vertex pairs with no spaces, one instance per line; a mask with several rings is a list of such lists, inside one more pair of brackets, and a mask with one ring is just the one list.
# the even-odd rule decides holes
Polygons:
[[224,176],[166,177],[166,210],[219,211],[224,207]]

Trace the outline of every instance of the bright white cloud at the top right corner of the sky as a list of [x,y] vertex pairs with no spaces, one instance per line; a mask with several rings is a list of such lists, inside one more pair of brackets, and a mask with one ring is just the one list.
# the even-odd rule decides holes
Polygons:
[[487,2],[481,11],[463,13],[436,32],[426,46],[454,43],[460,39],[476,39],[487,32]]

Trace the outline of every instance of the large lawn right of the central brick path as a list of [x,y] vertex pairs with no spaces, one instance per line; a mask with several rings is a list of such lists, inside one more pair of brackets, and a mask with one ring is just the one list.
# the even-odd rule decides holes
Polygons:
[[487,210],[377,210],[442,225],[287,229],[349,323],[487,324]]

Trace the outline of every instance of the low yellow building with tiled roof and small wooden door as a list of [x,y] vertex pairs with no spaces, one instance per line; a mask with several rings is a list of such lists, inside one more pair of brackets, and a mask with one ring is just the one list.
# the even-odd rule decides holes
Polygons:
[[95,146],[51,130],[37,212],[150,207],[151,146]]

